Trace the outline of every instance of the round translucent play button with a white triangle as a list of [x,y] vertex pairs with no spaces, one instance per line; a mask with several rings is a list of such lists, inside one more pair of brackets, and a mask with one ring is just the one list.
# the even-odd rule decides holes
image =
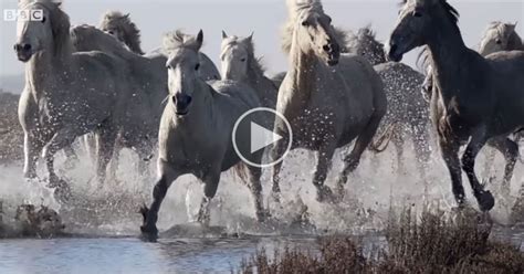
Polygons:
[[[273,124],[277,122],[287,128],[285,135],[273,133]],[[291,150],[291,125],[285,117],[271,108],[259,107],[244,113],[233,127],[232,141],[237,155],[245,164],[253,167],[271,167],[284,160]],[[268,148],[282,143],[285,152],[280,159],[271,159]]]

